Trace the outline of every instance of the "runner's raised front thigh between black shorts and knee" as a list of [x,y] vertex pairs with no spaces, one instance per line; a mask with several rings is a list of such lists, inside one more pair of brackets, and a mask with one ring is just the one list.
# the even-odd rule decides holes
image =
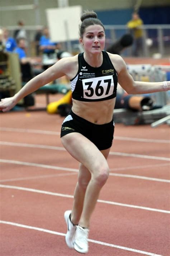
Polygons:
[[106,158],[99,149],[80,133],[69,133],[61,138],[63,146],[77,161],[91,173],[108,167]]

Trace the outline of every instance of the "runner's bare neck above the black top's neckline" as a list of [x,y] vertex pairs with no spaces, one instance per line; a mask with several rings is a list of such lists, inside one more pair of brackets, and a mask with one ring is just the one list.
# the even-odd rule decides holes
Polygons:
[[103,53],[99,54],[92,54],[92,53],[86,53],[84,52],[84,59],[85,61],[94,68],[98,68],[102,65],[103,63]]

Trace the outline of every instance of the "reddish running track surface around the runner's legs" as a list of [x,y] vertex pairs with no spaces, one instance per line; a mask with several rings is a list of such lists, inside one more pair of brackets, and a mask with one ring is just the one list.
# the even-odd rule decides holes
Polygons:
[[[43,103],[44,95],[37,99]],[[74,193],[77,172],[72,169],[78,169],[78,163],[63,150],[60,135],[41,132],[60,132],[62,120],[45,111],[1,113],[1,256],[78,255],[65,244],[63,219],[72,206],[68,195]],[[89,236],[100,242],[89,243],[88,255],[169,256],[169,127],[116,124],[114,136],[111,152],[120,154],[110,154],[108,159],[110,176],[101,190]]]

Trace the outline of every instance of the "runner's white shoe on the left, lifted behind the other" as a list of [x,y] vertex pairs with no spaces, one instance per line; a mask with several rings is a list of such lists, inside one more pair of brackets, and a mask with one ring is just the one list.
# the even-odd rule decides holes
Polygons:
[[73,242],[74,242],[74,236],[76,232],[76,225],[72,224],[70,220],[70,214],[71,211],[65,211],[64,218],[67,223],[67,234],[66,234],[66,244],[69,248],[74,248]]

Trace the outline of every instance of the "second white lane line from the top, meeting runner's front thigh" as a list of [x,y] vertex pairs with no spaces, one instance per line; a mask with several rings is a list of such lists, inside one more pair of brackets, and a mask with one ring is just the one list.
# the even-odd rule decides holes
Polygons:
[[[55,146],[39,145],[39,144],[3,142],[3,141],[1,141],[0,144],[6,145],[6,146],[14,146],[14,147],[43,148],[43,149],[66,151],[66,149],[63,147],[55,147]],[[115,156],[139,157],[139,158],[147,158],[147,159],[154,159],[154,160],[161,160],[161,161],[170,161],[170,158],[168,157],[147,156],[147,155],[141,155],[141,154],[122,153],[122,152],[109,152],[109,154],[115,155]]]

